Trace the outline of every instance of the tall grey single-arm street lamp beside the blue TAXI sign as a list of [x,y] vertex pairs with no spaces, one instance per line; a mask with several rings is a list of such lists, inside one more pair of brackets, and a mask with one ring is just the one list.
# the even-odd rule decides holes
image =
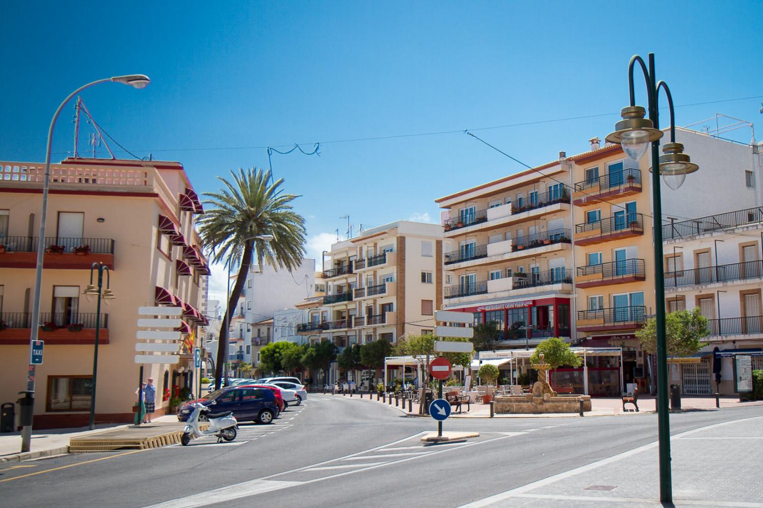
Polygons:
[[[107,81],[113,81],[114,83],[124,83],[124,85],[130,85],[134,88],[146,88],[146,86],[148,86],[148,84],[151,82],[151,80],[146,75],[130,74],[130,75],[124,75],[124,76],[114,76],[113,78],[98,79],[97,81],[92,81],[91,83],[88,83],[87,85],[83,85],[77,88],[75,91],[72,91],[72,93],[69,94],[69,96],[63,100],[63,102],[60,104],[60,106],[56,110],[56,113],[53,113],[53,120],[50,121],[50,129],[48,129],[47,149],[45,152],[45,179],[43,181],[43,206],[40,212],[40,237],[39,237],[39,240],[37,241],[37,270],[34,274],[34,298],[32,299],[32,323],[31,323],[32,328],[31,328],[31,334],[29,336],[30,361],[29,361],[29,368],[27,369],[27,392],[30,394],[31,398],[33,399],[34,399],[35,366],[33,363],[31,363],[31,357],[32,357],[32,347],[34,345],[34,341],[37,340],[37,332],[39,331],[38,327],[40,327],[40,292],[42,292],[42,283],[43,283],[43,257],[45,253],[45,219],[47,217],[48,189],[50,188],[50,152],[51,152],[51,147],[53,145],[53,127],[56,126],[56,120],[58,120],[58,115],[61,113],[61,110],[63,110],[63,107],[66,106],[66,103],[69,102],[69,100],[72,97],[74,97],[76,94],[79,94],[79,92],[81,92],[82,90],[85,90],[85,88],[90,88],[93,85],[98,85],[100,83],[105,83]],[[34,405],[32,407],[34,407]],[[21,430],[21,452],[29,451],[31,439],[32,439],[32,424],[30,419],[29,425],[24,425],[24,427]]]

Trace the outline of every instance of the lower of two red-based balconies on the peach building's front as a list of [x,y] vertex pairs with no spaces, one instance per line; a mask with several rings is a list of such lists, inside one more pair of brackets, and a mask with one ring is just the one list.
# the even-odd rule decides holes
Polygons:
[[[66,312],[40,312],[38,338],[48,344],[95,343],[95,312],[71,315]],[[3,312],[0,314],[0,345],[29,344],[31,312]],[[108,344],[108,314],[101,314],[98,343]]]

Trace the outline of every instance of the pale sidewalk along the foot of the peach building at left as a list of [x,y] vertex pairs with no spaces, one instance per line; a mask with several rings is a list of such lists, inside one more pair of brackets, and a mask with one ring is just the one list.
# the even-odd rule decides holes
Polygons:
[[[178,417],[174,414],[154,418],[155,422],[177,422]],[[29,460],[30,458],[50,457],[69,452],[69,440],[72,438],[92,436],[93,434],[108,432],[115,429],[127,429],[134,427],[132,423],[118,425],[103,423],[95,426],[95,430],[87,430],[87,427],[76,429],[48,429],[32,430],[31,451],[21,453],[21,432],[0,434],[0,462]]]

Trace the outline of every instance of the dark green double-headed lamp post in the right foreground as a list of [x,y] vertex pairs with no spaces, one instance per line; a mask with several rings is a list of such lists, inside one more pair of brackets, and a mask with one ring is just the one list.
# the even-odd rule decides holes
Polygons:
[[[693,164],[688,155],[685,155],[684,145],[675,141],[675,120],[673,112],[673,97],[665,81],[657,81],[655,78],[655,55],[649,53],[649,68],[644,60],[636,55],[628,64],[628,90],[630,94],[629,107],[623,107],[621,116],[623,120],[615,124],[615,132],[607,136],[607,141],[622,145],[623,152],[629,158],[639,160],[642,158],[649,143],[652,143],[652,166],[658,163],[657,171],[649,168],[652,173],[652,230],[655,244],[655,310],[657,320],[657,409],[658,409],[658,443],[659,443],[659,469],[660,469],[660,500],[663,503],[671,503],[673,500],[673,487],[671,483],[670,468],[670,417],[668,414],[668,354],[665,341],[665,273],[662,267],[662,202],[660,198],[660,174],[673,190],[681,187],[687,174],[694,173],[699,167]],[[646,81],[646,95],[649,101],[649,118],[644,118],[646,111],[641,106],[636,106],[633,94],[633,66],[639,63]],[[658,122],[658,93],[660,88],[665,91],[668,98],[668,110],[670,110],[670,138],[671,142],[662,147],[664,155],[659,153],[662,130]]]

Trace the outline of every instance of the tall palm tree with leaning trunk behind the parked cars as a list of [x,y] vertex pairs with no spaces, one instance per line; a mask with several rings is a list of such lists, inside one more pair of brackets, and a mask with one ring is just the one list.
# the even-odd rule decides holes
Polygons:
[[291,272],[301,265],[305,254],[304,218],[294,212],[290,204],[298,196],[285,194],[278,188],[283,179],[268,185],[270,171],[256,168],[230,171],[230,174],[232,181],[218,177],[223,183],[221,190],[204,193],[210,198],[204,204],[211,208],[198,221],[201,241],[211,259],[215,263],[224,262],[226,267],[239,267],[217,343],[216,389],[221,387],[223,367],[227,363],[230,318],[253,258],[257,258],[260,267],[266,263],[275,270],[285,268]]

